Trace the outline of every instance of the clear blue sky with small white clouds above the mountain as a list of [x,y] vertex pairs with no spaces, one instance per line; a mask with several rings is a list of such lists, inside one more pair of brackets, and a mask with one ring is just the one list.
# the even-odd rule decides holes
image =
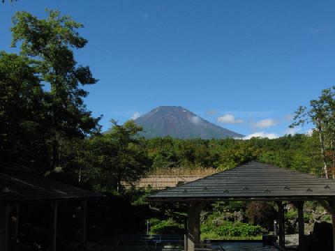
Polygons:
[[[181,105],[244,135],[288,132],[292,114],[335,85],[335,1],[20,0],[0,4],[0,50],[18,10],[61,10],[89,40],[76,52],[98,84],[101,124]],[[302,128],[302,131],[310,127]]]

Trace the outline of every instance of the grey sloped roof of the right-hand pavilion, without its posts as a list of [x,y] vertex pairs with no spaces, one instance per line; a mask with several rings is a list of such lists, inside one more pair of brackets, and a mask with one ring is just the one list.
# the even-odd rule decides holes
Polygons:
[[149,201],[335,199],[335,181],[251,161],[148,197]]

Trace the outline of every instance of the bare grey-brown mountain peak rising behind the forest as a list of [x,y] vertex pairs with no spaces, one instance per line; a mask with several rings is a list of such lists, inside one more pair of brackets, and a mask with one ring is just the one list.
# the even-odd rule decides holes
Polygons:
[[135,119],[135,123],[143,127],[144,132],[141,135],[146,138],[168,135],[179,139],[244,137],[237,132],[216,126],[180,106],[156,107]]

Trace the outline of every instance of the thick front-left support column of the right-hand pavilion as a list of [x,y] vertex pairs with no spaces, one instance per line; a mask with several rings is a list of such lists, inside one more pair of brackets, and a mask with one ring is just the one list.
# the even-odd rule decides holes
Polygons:
[[188,206],[187,251],[194,251],[195,245],[200,243],[200,212],[204,206],[204,203],[199,202]]

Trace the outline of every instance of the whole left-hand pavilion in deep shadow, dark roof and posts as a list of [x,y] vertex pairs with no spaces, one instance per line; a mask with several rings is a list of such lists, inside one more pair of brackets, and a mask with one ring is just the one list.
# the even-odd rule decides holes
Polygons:
[[[0,173],[0,250],[10,248],[9,240],[19,234],[20,206],[23,204],[50,204],[49,250],[57,250],[57,209],[60,201],[81,201],[80,245],[86,248],[87,199],[101,197],[94,192],[52,181],[27,172]],[[15,223],[10,213],[15,211]]]

